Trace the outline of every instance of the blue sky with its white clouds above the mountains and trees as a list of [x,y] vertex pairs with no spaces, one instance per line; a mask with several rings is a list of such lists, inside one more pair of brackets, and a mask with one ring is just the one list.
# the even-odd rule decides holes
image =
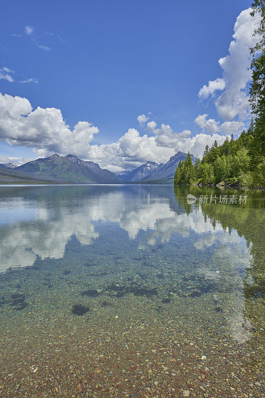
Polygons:
[[[189,149],[188,145],[193,152],[201,151],[190,138],[196,134],[218,134],[222,140],[231,132],[231,124],[220,127],[224,122],[241,123],[233,126],[235,133],[242,131],[249,114],[238,110],[225,113],[222,104],[215,103],[221,93],[218,90],[206,88],[200,97],[198,93],[216,79],[220,79],[218,87],[225,85],[224,92],[233,86],[232,67],[237,71],[242,64],[240,57],[248,58],[246,45],[250,37],[246,38],[246,27],[239,29],[239,38],[234,39],[238,40],[240,51],[236,53],[240,52],[240,56],[234,54],[228,69],[222,68],[218,60],[229,55],[234,24],[248,7],[250,2],[242,0],[6,2],[0,24],[0,93],[27,99],[32,106],[28,112],[38,106],[60,109],[69,134],[64,129],[59,131],[62,126],[58,113],[59,127],[56,123],[48,126],[51,132],[45,136],[42,131],[42,137],[41,133],[36,137],[35,129],[40,124],[40,130],[45,128],[44,110],[41,115],[32,115],[34,132],[30,130],[32,120],[22,128],[23,120],[14,125],[12,115],[10,125],[15,127],[8,130],[9,121],[2,117],[5,124],[1,131],[0,123],[0,155],[33,159],[55,151],[66,154],[73,147],[84,159],[98,161],[110,169],[123,169],[144,160],[165,161],[177,149]],[[247,22],[240,23],[244,27]],[[248,32],[243,37],[245,47],[240,47],[243,30]],[[245,71],[245,81],[249,78],[246,75]],[[238,84],[242,86],[242,82]],[[243,90],[239,88],[242,93],[249,83],[244,84]],[[231,100],[231,90],[227,98]],[[3,106],[8,111],[11,105],[7,102]],[[137,117],[142,114],[147,120],[139,123]],[[194,121],[205,114],[208,116]],[[219,123],[218,127],[209,119]],[[79,121],[90,124],[79,125],[77,133],[74,126]],[[147,125],[153,121],[156,125]],[[170,130],[161,129],[162,123]],[[24,136],[17,133],[14,137],[16,128],[24,129]],[[128,129],[137,133],[133,130],[126,137]],[[183,130],[189,133],[174,135]],[[71,138],[71,132],[81,135]],[[67,145],[64,134],[68,134]],[[90,138],[84,139],[82,145],[76,144],[84,134]],[[154,138],[155,145],[161,148],[154,151],[153,141],[140,139],[144,134]],[[181,138],[180,143],[177,138]],[[150,144],[150,148],[139,152],[139,148],[130,147],[130,140],[138,147]],[[83,150],[87,146],[88,150]],[[108,153],[107,158],[104,153]]]

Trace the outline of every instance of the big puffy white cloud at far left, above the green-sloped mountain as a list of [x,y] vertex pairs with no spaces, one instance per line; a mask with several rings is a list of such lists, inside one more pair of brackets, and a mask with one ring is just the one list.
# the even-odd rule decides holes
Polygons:
[[60,109],[38,106],[33,110],[26,98],[0,94],[0,139],[9,145],[23,145],[43,154],[84,153],[98,131],[87,121],[79,121],[71,130]]

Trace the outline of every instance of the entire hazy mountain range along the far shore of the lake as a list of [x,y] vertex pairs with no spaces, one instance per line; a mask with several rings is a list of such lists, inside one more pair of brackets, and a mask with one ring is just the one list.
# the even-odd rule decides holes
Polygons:
[[[97,163],[79,159],[75,155],[60,156],[54,154],[47,158],[39,158],[21,166],[13,164],[0,165],[0,182],[32,180],[55,183],[74,184],[122,184],[122,183],[172,183],[177,165],[186,158],[187,154],[177,152],[167,163],[158,165],[148,161],[131,171],[113,173],[101,169]],[[194,163],[195,157],[191,156]],[[4,177],[5,176],[5,177]]]

